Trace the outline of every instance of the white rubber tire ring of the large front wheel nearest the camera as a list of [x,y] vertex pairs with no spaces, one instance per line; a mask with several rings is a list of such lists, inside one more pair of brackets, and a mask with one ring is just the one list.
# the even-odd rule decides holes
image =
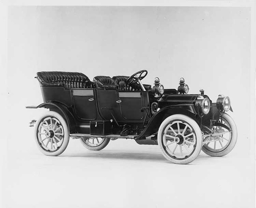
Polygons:
[[[163,146],[163,131],[165,130],[166,126],[171,123],[173,120],[183,120],[185,122],[187,122],[191,128],[194,130],[195,132],[195,136],[196,136],[196,147],[194,152],[187,157],[186,159],[175,159],[173,157],[171,157],[166,151],[165,148]],[[167,117],[160,125],[159,130],[158,130],[158,145],[160,146],[160,149],[163,153],[163,156],[170,162],[176,163],[176,164],[188,164],[190,162],[192,162],[193,160],[195,160],[201,149],[202,149],[202,133],[201,130],[197,124],[197,122],[193,119],[191,119],[190,117],[186,116],[186,115],[182,115],[182,114],[175,114],[175,115],[171,115],[169,117]]]

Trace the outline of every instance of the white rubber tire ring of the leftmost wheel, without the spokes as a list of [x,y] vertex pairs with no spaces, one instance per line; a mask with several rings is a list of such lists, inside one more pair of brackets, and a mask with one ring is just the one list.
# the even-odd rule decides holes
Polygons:
[[[59,122],[61,122],[61,125],[63,127],[64,130],[64,140],[63,143],[61,144],[60,148],[56,151],[50,152],[50,151],[46,151],[41,147],[41,143],[38,140],[37,137],[37,133],[38,133],[38,128],[39,128],[39,124],[46,118],[46,117],[55,117],[56,119],[59,120]],[[35,142],[37,144],[37,147],[39,148],[39,150],[47,156],[58,156],[61,153],[63,153],[64,150],[66,150],[68,144],[69,144],[69,128],[67,126],[67,122],[66,120],[57,112],[55,111],[48,111],[46,113],[44,113],[35,123]]]

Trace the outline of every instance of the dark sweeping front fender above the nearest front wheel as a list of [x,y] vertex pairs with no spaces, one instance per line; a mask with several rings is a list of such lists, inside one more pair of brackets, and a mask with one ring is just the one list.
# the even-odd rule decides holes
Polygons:
[[166,106],[159,111],[157,111],[150,121],[147,124],[147,127],[141,132],[140,135],[138,135],[135,140],[140,140],[144,137],[148,137],[154,133],[156,133],[163,122],[167,117],[174,115],[174,114],[183,114],[187,115],[188,117],[191,117],[196,122],[196,110],[195,106],[193,104],[179,104],[175,106]]

